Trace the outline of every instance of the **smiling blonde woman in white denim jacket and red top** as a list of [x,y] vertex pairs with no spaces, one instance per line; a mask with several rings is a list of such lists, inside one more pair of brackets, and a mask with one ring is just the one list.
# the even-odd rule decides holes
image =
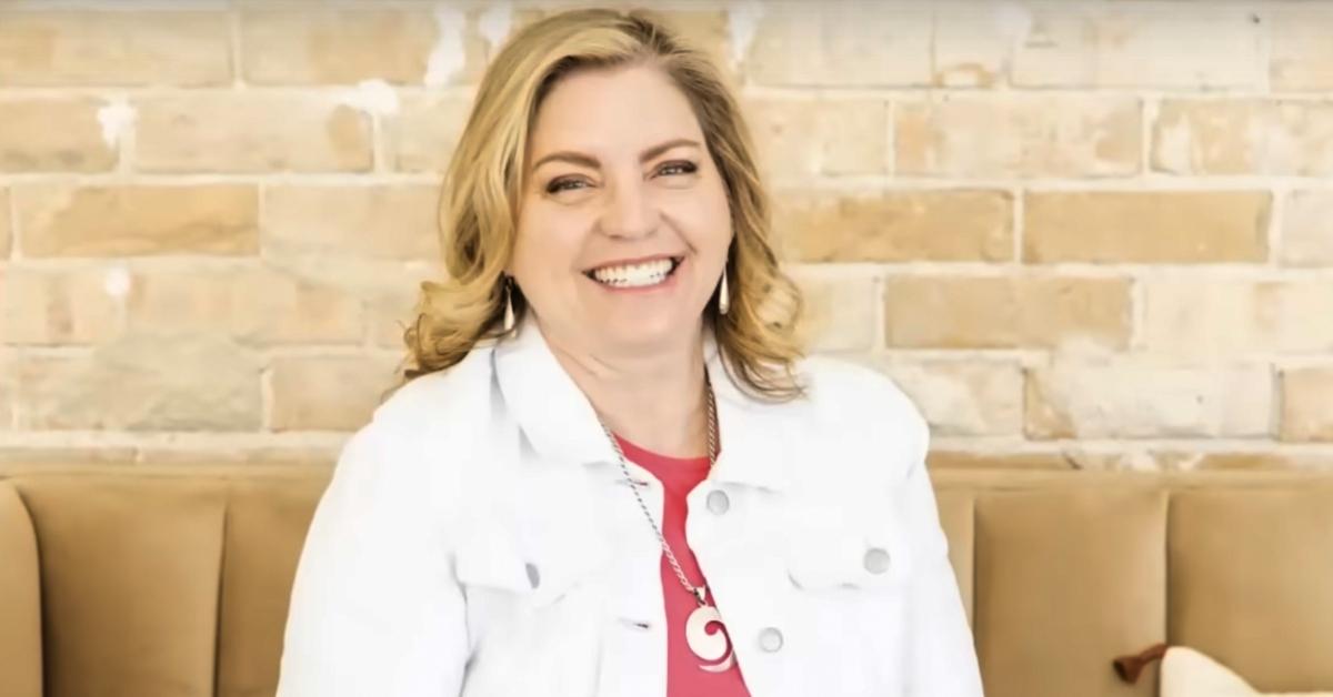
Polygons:
[[280,696],[981,694],[928,429],[801,356],[706,60],[641,13],[524,28],[447,192],[451,280],[317,508]]

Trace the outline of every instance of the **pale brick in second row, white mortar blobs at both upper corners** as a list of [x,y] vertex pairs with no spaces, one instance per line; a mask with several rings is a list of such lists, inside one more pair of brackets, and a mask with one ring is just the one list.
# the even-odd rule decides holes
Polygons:
[[235,92],[137,103],[145,172],[365,172],[371,119],[325,96]]

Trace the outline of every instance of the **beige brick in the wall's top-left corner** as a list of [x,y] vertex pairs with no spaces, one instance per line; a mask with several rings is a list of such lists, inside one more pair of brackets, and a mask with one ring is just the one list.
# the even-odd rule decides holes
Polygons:
[[227,13],[0,9],[0,84],[228,84]]

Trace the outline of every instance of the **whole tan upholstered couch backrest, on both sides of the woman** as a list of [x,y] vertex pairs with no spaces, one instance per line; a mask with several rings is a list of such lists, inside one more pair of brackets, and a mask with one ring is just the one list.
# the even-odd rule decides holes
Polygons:
[[[327,466],[9,469],[0,558],[40,550],[48,697],[273,693]],[[1160,641],[1261,690],[1333,688],[1333,473],[933,478],[989,697],[1153,694],[1110,661]],[[0,593],[29,613],[0,646],[33,642],[32,581],[0,569]]]

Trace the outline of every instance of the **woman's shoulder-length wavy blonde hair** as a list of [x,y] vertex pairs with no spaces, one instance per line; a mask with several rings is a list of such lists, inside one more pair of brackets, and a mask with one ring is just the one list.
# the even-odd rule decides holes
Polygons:
[[712,61],[656,17],[643,9],[560,12],[520,29],[487,68],[444,179],[447,280],[421,284],[416,323],[404,331],[403,381],[392,390],[457,364],[480,341],[504,337],[507,291],[516,320],[528,311],[517,285],[507,288],[504,267],[515,247],[528,139],[552,87],[579,69],[648,64],[689,99],[726,188],[734,231],[726,261],[730,305],[718,313],[714,291],[704,312],[726,372],[761,400],[805,393],[794,370],[804,354],[797,339],[804,301],[769,244],[768,195],[750,135]]

